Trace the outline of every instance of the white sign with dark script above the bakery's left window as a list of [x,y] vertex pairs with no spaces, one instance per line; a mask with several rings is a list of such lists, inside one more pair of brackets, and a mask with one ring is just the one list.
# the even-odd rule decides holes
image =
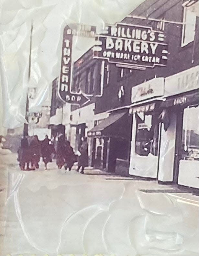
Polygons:
[[148,82],[138,84],[131,89],[131,102],[136,103],[146,99],[164,96],[164,78],[158,77]]

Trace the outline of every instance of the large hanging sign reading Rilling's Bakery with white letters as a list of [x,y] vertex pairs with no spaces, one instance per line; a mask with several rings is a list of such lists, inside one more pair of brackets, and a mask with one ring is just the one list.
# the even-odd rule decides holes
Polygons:
[[168,44],[161,31],[151,27],[117,23],[95,37],[94,58],[111,63],[153,68],[166,66]]

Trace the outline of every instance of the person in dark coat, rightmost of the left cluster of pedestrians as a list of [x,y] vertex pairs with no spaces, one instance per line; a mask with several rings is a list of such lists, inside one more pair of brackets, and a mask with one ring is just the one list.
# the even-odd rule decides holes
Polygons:
[[48,135],[45,136],[45,139],[41,141],[41,155],[42,155],[42,160],[45,164],[44,169],[47,170],[47,164],[49,162],[52,162],[52,152],[54,146],[51,142],[51,140],[48,138]]

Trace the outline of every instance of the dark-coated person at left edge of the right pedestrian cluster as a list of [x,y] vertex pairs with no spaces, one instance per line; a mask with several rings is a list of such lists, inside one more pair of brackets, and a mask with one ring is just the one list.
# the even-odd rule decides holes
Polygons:
[[56,151],[57,166],[59,169],[61,169],[62,166],[64,165],[64,157],[65,157],[65,137],[61,133],[58,136],[57,151]]

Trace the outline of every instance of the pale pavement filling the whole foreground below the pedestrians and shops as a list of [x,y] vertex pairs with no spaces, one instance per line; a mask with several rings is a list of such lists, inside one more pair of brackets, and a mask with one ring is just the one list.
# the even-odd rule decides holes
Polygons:
[[0,190],[1,256],[199,255],[199,197],[155,181],[65,173],[55,163],[22,172],[11,154]]

